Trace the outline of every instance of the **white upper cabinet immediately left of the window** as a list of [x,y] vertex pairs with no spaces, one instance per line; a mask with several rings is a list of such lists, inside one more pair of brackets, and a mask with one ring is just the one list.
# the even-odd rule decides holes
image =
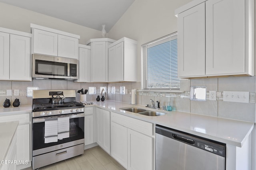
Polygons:
[[123,37],[109,45],[108,81],[137,81],[137,41]]

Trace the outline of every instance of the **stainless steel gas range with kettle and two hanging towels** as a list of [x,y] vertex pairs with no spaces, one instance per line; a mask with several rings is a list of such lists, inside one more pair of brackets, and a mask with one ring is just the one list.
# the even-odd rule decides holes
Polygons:
[[84,153],[84,104],[75,90],[34,90],[32,168]]

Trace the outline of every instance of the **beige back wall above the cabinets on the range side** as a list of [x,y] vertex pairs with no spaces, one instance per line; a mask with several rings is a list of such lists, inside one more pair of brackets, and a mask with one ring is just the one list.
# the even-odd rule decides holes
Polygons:
[[[82,16],[81,16],[82,17]],[[80,44],[100,38],[101,31],[0,2],[0,27],[31,33],[30,23],[80,35]]]

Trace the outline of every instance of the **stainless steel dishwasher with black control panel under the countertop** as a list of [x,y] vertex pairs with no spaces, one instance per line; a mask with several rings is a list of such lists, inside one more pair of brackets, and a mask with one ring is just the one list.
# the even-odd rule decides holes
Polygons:
[[156,170],[225,170],[226,144],[156,125]]

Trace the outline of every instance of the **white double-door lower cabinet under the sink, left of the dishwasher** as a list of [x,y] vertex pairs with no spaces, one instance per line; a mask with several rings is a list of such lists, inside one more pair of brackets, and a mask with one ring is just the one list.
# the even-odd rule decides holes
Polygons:
[[111,112],[111,156],[128,170],[153,170],[153,124]]

